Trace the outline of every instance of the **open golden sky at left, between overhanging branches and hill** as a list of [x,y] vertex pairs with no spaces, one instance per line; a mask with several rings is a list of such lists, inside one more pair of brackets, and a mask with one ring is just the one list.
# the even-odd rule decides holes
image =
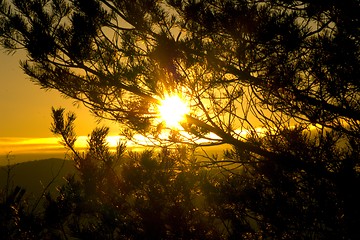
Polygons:
[[[83,105],[75,106],[56,90],[46,91],[30,81],[19,64],[25,58],[24,52],[8,55],[0,49],[0,156],[58,148],[50,131],[51,107],[76,113],[78,136],[87,136],[97,126],[96,118]],[[113,123],[99,125],[110,126],[111,135],[118,132]]]

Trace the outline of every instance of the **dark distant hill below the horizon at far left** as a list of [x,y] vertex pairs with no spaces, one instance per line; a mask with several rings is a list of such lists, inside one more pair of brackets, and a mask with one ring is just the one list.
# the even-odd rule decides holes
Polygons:
[[[29,198],[37,198],[45,186],[55,178],[49,190],[56,192],[56,187],[65,183],[64,177],[75,173],[73,162],[59,158],[36,160],[12,165],[11,186],[26,189]],[[3,189],[7,179],[7,167],[0,167],[0,188]]]

